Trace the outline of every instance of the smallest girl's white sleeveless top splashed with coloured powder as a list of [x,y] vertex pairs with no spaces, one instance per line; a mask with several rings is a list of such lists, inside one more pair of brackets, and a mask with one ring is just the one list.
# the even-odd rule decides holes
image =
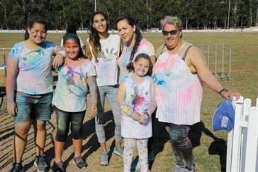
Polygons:
[[[142,85],[136,85],[130,76],[125,76],[125,101],[140,114],[147,112],[151,104],[151,77],[145,76]],[[152,121],[148,118],[144,125],[133,120],[122,111],[121,135],[124,138],[150,138],[152,136]]]

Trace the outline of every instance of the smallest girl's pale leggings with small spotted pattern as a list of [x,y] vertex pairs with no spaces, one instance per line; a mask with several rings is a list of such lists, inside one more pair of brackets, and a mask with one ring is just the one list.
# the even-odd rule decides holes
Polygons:
[[148,138],[124,138],[124,172],[130,172],[131,162],[133,160],[133,150],[136,144],[138,149],[139,161],[141,164],[141,171],[146,172],[149,170]]

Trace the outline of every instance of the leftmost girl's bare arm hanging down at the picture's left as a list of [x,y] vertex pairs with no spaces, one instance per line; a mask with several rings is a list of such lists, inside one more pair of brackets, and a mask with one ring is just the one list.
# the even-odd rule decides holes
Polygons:
[[15,86],[17,85],[19,60],[13,56],[8,56],[7,59],[7,74],[6,74],[6,97],[8,113],[12,116],[17,114],[17,105],[14,100]]

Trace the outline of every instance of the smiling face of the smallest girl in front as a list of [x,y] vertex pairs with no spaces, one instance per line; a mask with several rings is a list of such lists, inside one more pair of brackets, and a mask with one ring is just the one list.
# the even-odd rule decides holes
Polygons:
[[145,58],[139,58],[137,62],[133,62],[134,72],[142,77],[145,76],[149,71],[149,60]]

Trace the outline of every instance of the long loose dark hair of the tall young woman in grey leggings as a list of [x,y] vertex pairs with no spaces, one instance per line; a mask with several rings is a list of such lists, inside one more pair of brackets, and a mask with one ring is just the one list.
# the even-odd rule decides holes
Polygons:
[[[98,31],[93,27],[93,23],[94,23],[94,17],[97,14],[101,14],[103,15],[103,17],[106,19],[107,21],[107,16],[100,11],[97,12],[93,12],[92,16],[91,16],[91,20],[89,21],[89,45],[92,46],[92,53],[93,55],[96,57],[96,61],[98,61],[97,57],[98,54],[103,54],[103,51],[101,50],[101,44],[100,44],[100,36],[98,35]],[[109,30],[109,25],[107,23],[107,32]]]

